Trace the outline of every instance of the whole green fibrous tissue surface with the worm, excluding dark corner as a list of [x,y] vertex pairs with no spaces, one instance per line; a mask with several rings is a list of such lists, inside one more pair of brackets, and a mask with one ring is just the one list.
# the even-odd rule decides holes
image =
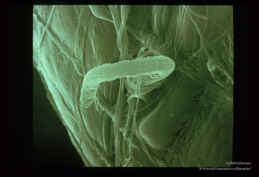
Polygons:
[[232,6],[34,6],[33,66],[86,167],[226,167]]

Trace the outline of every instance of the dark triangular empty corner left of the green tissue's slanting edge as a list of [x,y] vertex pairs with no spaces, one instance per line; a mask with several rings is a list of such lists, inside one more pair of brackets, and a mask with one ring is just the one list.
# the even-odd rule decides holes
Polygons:
[[83,167],[83,160],[46,94],[41,77],[33,68],[33,165]]

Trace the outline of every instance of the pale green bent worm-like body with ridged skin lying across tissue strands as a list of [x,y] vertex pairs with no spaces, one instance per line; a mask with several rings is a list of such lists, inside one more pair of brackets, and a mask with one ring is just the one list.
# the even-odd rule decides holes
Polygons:
[[[165,56],[137,58],[131,61],[124,60],[95,67],[84,77],[80,97],[81,105],[84,108],[91,106],[96,98],[98,85],[101,82],[113,81],[123,77],[144,76],[141,84],[148,86],[164,79],[174,69],[174,61]],[[145,92],[150,92],[151,90],[146,90]]]

